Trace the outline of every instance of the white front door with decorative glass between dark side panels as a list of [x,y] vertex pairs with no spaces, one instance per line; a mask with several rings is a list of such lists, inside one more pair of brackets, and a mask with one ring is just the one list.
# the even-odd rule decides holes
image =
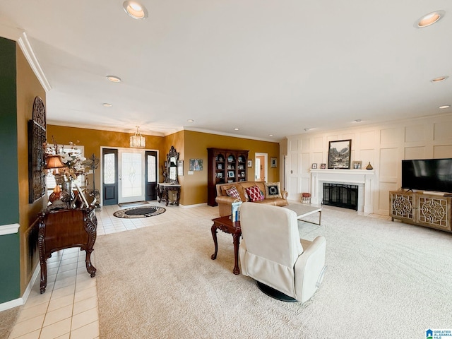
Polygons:
[[145,200],[145,161],[143,150],[121,150],[118,153],[118,203]]

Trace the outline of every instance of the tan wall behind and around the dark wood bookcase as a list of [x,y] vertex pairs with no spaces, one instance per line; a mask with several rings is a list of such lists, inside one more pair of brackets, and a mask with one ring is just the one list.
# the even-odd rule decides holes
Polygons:
[[[246,167],[249,180],[253,180],[254,178],[254,154],[256,152],[268,153],[268,159],[270,159],[270,157],[277,157],[278,164],[280,163],[279,143],[256,141],[246,138],[234,138],[232,136],[218,136],[217,134],[212,133],[185,131],[184,186],[182,186],[184,201],[182,202],[181,200],[182,205],[194,205],[207,202],[207,148],[211,147],[249,150],[248,157],[253,160],[253,167]],[[190,159],[202,159],[203,170],[188,175],[187,171],[189,169]],[[268,182],[278,182],[279,169],[270,168],[270,162],[267,166]]]

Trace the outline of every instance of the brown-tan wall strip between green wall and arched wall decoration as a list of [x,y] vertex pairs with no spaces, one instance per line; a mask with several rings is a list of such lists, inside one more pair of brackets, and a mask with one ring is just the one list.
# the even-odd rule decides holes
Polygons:
[[[31,279],[39,254],[36,244],[29,244],[32,223],[37,213],[47,204],[46,198],[28,203],[28,120],[32,119],[33,102],[40,96],[45,104],[45,90],[37,80],[23,52],[16,44],[17,70],[17,129],[18,129],[18,177],[19,177],[19,220],[20,220],[20,294]],[[31,247],[31,253],[29,251]]]

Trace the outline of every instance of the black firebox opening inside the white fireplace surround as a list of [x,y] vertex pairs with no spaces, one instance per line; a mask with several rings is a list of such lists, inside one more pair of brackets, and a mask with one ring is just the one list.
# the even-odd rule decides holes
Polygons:
[[358,210],[358,186],[324,182],[322,205]]

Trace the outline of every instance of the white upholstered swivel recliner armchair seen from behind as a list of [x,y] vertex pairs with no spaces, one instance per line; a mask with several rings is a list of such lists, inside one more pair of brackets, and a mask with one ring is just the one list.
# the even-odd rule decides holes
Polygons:
[[258,203],[242,203],[240,225],[243,275],[276,299],[306,302],[314,295],[325,270],[325,237],[299,239],[294,211]]

